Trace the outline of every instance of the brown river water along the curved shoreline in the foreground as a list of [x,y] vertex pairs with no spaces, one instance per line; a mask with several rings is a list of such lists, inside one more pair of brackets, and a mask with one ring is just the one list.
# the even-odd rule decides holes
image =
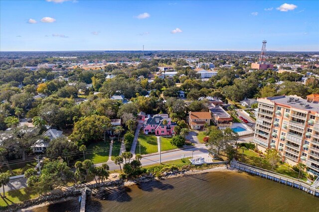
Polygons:
[[[237,172],[212,172],[105,189],[99,198],[90,197],[86,203],[87,212],[319,212],[318,197]],[[54,209],[59,212],[73,211],[70,205],[58,205]]]

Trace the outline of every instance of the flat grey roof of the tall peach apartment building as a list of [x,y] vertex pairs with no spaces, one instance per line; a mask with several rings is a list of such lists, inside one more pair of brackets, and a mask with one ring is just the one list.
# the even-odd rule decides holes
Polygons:
[[[263,99],[263,98],[262,98]],[[319,112],[319,103],[310,103],[307,100],[297,96],[278,96],[278,97],[267,97],[267,100],[276,104],[286,105],[297,109],[306,111],[317,111]]]

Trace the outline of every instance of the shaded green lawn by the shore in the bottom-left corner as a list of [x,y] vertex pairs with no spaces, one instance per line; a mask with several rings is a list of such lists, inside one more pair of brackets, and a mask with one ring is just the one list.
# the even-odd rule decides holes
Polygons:
[[[1,194],[2,189],[1,189]],[[39,195],[36,194],[35,192],[32,192],[30,188],[23,188],[23,189],[18,189],[18,190],[12,190],[5,192],[6,199],[5,201],[11,205],[13,203],[20,203],[26,200],[34,199],[37,198]],[[0,210],[1,207],[7,206],[7,204],[3,201],[2,198],[0,198]]]

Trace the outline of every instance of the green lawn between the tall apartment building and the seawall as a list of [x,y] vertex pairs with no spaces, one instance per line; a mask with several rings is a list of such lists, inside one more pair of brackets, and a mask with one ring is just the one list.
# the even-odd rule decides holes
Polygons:
[[[238,152],[239,152],[238,158],[239,158],[239,161],[241,161],[241,150],[239,150]],[[264,160],[262,162],[262,167],[261,167],[259,158],[260,158],[259,154],[254,152],[253,150],[245,150],[244,151],[244,157],[243,157],[244,163],[247,163],[247,164],[252,165],[252,166],[257,166],[257,167],[260,167],[263,169],[267,169],[269,171],[277,172],[279,174],[286,175],[289,177],[298,178],[299,173],[296,172],[295,170],[291,169],[290,167],[286,166],[285,164],[279,163],[276,166],[276,168],[274,170],[272,170],[271,165],[266,160]],[[300,178],[300,179],[303,181],[307,181],[307,178],[305,176],[303,178]]]

